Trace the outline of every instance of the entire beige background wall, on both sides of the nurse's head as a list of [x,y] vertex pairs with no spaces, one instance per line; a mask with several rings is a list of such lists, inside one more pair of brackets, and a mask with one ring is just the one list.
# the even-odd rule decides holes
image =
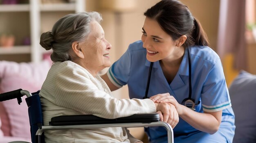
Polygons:
[[[106,0],[105,0],[106,1]],[[113,2],[115,0],[108,0]],[[123,0],[129,2],[130,0]],[[144,24],[144,11],[160,0],[135,0],[136,6],[130,11],[117,12],[100,6],[101,0],[87,0],[87,11],[99,11],[102,14],[102,27],[106,39],[112,44],[110,52],[112,63],[128,48],[128,45],[141,39],[141,28]],[[218,32],[218,15],[220,0],[181,0],[191,10],[207,32],[211,47],[216,49]],[[200,9],[198,9],[200,8]],[[103,71],[103,73],[106,70]],[[113,92],[118,98],[128,98],[125,86]]]

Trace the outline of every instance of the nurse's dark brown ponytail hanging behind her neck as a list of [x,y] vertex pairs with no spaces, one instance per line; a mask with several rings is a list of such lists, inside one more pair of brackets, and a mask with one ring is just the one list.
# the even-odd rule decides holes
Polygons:
[[194,17],[194,28],[191,37],[193,37],[195,45],[209,46],[208,38],[200,22]]

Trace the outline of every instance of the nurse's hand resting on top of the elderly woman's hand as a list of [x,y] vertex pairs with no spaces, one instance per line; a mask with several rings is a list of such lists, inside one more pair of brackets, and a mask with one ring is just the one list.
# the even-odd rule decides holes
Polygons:
[[175,106],[177,113],[182,114],[182,105],[179,104],[177,100],[172,95],[170,95],[170,93],[157,94],[151,96],[149,99],[155,103],[171,103]]

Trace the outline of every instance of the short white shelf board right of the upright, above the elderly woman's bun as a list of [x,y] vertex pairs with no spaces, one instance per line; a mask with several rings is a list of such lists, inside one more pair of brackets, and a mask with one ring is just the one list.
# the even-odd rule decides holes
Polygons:
[[41,11],[75,11],[75,3],[63,3],[63,4],[41,4]]

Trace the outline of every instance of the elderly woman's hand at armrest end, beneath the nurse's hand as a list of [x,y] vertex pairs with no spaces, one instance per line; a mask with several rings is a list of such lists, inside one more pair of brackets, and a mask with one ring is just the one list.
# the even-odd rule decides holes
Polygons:
[[175,106],[170,103],[155,103],[157,107],[157,113],[160,115],[160,120],[167,122],[174,128],[179,122],[179,115],[175,109]]

